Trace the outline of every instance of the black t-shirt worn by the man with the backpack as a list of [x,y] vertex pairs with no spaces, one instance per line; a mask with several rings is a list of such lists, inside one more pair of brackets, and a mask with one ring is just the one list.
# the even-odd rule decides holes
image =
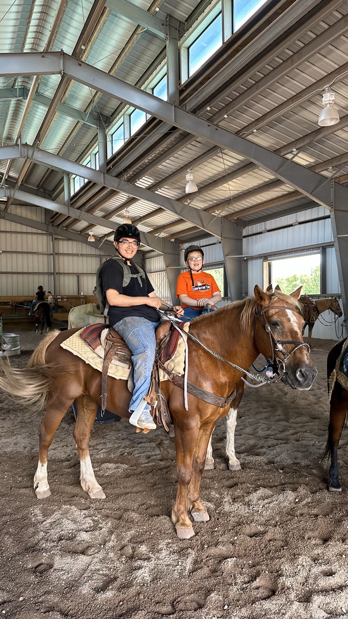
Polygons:
[[[139,274],[136,267],[130,266],[129,268],[131,269],[131,274]],[[149,297],[149,293],[154,292],[154,288],[147,274],[145,274],[145,279],[141,277],[142,286],[139,284],[137,277],[131,277],[128,286],[123,288],[123,268],[116,260],[108,260],[105,262],[102,269],[102,282],[104,294],[109,288],[113,288],[117,290],[117,292],[127,295],[128,297]],[[127,318],[128,316],[147,318],[147,320],[151,322],[157,322],[160,319],[155,308],[149,305],[134,305],[124,308],[110,305],[108,316],[110,324],[115,324],[115,322]]]

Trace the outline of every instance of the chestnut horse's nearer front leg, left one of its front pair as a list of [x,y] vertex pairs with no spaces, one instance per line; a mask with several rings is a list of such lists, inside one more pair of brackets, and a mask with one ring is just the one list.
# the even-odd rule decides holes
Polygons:
[[[194,449],[199,433],[199,418],[191,415],[186,417],[186,411],[180,421],[175,416],[175,449],[176,449],[176,472],[178,475],[178,490],[172,510],[172,521],[175,524],[176,534],[179,539],[193,537],[194,530],[187,514],[188,487],[193,473],[192,464]],[[205,457],[205,453],[204,453]],[[203,463],[204,466],[204,463]]]

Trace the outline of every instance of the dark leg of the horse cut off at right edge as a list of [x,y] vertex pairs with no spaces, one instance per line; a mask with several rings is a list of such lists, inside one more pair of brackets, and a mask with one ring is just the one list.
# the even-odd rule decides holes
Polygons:
[[331,456],[331,465],[329,469],[329,475],[331,477],[331,483],[329,485],[330,491],[342,491],[337,465],[337,448],[339,439],[341,438],[347,408],[348,391],[336,381],[330,400],[330,422],[328,428],[328,443],[326,444],[326,452],[329,452]]

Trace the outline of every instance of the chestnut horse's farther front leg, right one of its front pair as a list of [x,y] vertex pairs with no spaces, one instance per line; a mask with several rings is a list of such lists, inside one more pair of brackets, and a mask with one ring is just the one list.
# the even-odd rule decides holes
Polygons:
[[202,423],[201,428],[199,428],[196,448],[194,449],[193,475],[188,489],[187,508],[195,522],[207,522],[209,520],[207,508],[201,501],[201,480],[204,464],[206,463],[207,445],[215,423],[215,418]]

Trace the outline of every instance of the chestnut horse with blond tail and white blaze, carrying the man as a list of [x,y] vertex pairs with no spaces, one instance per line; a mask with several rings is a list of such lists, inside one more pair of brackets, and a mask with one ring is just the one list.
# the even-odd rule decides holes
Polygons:
[[[282,380],[292,389],[309,389],[316,368],[303,343],[303,319],[298,313],[300,288],[292,295],[269,294],[255,286],[254,297],[235,301],[212,314],[194,319],[190,333],[199,342],[188,339],[188,380],[213,394],[227,397],[233,392],[243,370],[262,353],[272,358]],[[74,439],[80,458],[80,482],[92,498],[105,498],[94,476],[89,456],[90,430],[95,420],[102,391],[101,373],[61,348],[60,344],[75,330],[48,334],[33,353],[27,368],[14,370],[2,366],[0,388],[12,399],[40,407],[46,413],[40,427],[40,448],[34,488],[38,498],[50,495],[47,479],[47,453],[55,431],[74,399],[78,415]],[[207,350],[218,352],[219,357]],[[232,365],[231,365],[232,364]],[[207,404],[184,392],[171,381],[161,384],[175,426],[178,491],[172,520],[180,539],[194,535],[188,511],[194,521],[209,520],[201,501],[201,476],[209,438],[215,422],[226,414],[225,408]],[[266,388],[266,387],[264,387]],[[107,407],[126,419],[131,394],[127,382],[108,379]]]

